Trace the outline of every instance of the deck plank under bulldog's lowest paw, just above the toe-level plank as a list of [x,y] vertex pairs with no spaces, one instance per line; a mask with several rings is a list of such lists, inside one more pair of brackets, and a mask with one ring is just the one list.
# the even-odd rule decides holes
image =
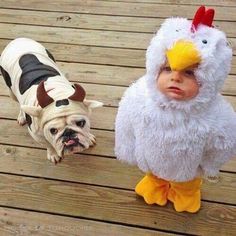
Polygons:
[[[144,176],[137,167],[123,164],[113,158],[92,155],[71,155],[55,166],[44,157],[43,150],[0,145],[0,172],[43,177],[84,184],[110,186],[134,190]],[[229,162],[236,173],[236,159]],[[225,166],[223,169],[226,169]],[[236,204],[234,183],[236,174],[220,174],[217,184],[204,181],[202,199]]]

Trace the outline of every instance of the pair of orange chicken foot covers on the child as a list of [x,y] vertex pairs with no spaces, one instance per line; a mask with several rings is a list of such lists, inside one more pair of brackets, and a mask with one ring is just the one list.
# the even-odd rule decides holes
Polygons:
[[177,212],[195,213],[201,205],[201,183],[200,178],[188,182],[173,182],[147,174],[137,184],[135,192],[142,196],[147,204],[164,206],[167,200],[170,200]]

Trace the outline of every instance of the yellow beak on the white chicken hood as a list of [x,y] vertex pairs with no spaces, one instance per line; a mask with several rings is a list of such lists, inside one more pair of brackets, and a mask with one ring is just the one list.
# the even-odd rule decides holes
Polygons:
[[199,64],[201,57],[195,45],[189,41],[180,40],[166,51],[166,56],[172,70],[183,70]]

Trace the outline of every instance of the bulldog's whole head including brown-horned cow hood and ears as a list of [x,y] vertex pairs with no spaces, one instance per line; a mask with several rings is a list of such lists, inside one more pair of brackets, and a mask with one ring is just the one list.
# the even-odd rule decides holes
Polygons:
[[91,110],[102,106],[101,102],[86,100],[84,89],[75,84],[74,94],[54,101],[45,91],[44,82],[37,88],[40,106],[22,105],[21,110],[33,117],[35,136],[43,136],[59,157],[81,152],[95,143],[89,132]]

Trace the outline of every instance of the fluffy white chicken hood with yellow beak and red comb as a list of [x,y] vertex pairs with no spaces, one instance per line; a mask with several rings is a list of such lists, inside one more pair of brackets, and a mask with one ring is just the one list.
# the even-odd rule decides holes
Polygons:
[[[221,90],[230,71],[232,50],[225,34],[212,26],[214,10],[200,7],[193,21],[169,18],[153,37],[146,54],[147,87],[159,104],[186,112],[206,109]],[[166,98],[156,89],[156,77],[166,58],[172,70],[198,64],[195,76],[201,88],[191,101]]]

